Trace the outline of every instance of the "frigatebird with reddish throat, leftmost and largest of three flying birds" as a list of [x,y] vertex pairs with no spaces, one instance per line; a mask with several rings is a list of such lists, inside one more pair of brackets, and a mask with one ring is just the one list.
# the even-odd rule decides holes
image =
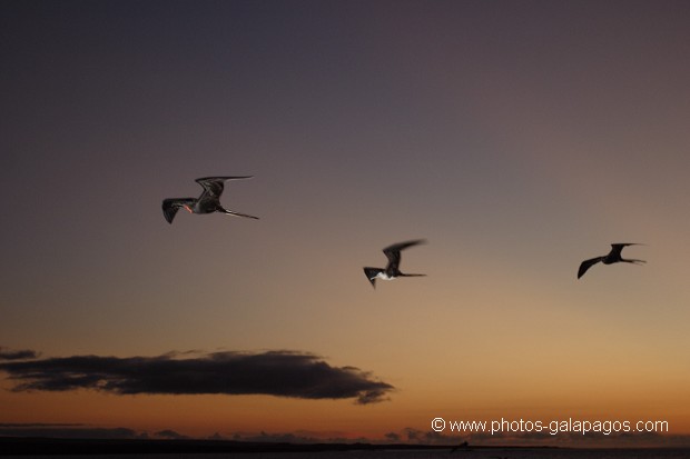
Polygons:
[[196,179],[196,182],[204,188],[204,192],[198,198],[169,198],[162,200],[162,214],[172,224],[172,219],[179,209],[185,209],[189,213],[213,213],[223,212],[230,216],[247,217],[258,220],[258,217],[246,213],[235,212],[220,206],[220,194],[223,194],[226,180],[250,179],[253,176],[241,177],[204,177]]

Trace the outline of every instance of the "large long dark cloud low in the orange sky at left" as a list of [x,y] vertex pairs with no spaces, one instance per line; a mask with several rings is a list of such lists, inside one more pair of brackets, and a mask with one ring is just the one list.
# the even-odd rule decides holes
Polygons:
[[213,352],[179,358],[73,356],[0,363],[14,391],[96,389],[119,395],[272,395],[303,399],[386,399],[393,386],[354,367],[331,367],[312,353]]

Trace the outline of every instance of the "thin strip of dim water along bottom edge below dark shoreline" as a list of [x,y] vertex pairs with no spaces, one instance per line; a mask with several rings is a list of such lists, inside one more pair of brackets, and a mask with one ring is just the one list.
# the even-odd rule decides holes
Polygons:
[[[490,449],[455,451],[383,450],[321,452],[103,455],[103,459],[688,459],[690,449]],[[85,459],[82,455],[2,456],[2,459]]]

